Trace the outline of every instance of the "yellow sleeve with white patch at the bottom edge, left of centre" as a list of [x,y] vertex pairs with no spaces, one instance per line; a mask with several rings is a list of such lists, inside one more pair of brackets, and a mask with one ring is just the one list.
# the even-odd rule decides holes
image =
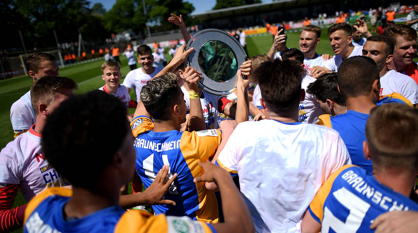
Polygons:
[[151,215],[143,210],[130,210],[122,215],[115,233],[212,233],[212,227],[186,216]]

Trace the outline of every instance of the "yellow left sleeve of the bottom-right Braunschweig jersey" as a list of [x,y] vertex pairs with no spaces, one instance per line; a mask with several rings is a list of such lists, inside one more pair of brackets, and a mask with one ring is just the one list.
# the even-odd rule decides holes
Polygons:
[[334,183],[335,178],[345,169],[352,167],[354,165],[344,165],[338,170],[336,170],[334,173],[331,174],[331,176],[326,180],[324,185],[318,190],[318,193],[316,193],[314,200],[312,200],[311,204],[309,205],[309,208],[311,209],[311,213],[313,213],[316,217],[319,218],[319,220],[322,223],[322,217],[324,216],[324,202],[325,199],[328,197],[329,192],[331,191],[332,184]]

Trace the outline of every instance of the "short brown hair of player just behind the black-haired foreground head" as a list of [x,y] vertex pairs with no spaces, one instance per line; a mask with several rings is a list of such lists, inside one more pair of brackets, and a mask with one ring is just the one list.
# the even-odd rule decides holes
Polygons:
[[77,83],[71,78],[60,76],[43,76],[31,85],[31,103],[33,111],[38,115],[38,105],[54,103],[60,89],[77,89]]

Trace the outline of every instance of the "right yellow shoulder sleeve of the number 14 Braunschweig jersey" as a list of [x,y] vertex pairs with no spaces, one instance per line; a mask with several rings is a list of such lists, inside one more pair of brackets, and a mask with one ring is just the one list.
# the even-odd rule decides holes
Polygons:
[[212,157],[219,144],[221,144],[222,133],[220,130],[202,130],[184,132],[181,135],[180,148],[183,155],[197,155],[202,161]]

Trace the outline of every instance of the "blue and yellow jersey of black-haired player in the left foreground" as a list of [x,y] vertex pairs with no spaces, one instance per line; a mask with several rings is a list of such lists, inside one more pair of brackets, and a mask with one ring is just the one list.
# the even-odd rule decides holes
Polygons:
[[82,218],[66,219],[64,205],[72,190],[47,188],[34,197],[25,209],[25,233],[216,233],[211,224],[188,217],[152,215],[143,210],[123,210],[110,206]]

